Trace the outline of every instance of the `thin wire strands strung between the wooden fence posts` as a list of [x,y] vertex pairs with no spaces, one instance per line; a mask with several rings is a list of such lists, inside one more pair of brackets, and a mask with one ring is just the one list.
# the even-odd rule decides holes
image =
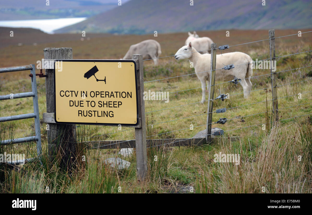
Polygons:
[[[305,33],[310,33],[312,31],[307,31],[307,32],[302,32],[301,34],[305,34]],[[285,35],[285,36],[280,36],[280,37],[275,37],[275,38],[272,38],[272,39],[278,39],[278,38],[284,38],[284,37],[288,37],[288,36],[294,36],[294,35],[298,35],[298,34],[292,34],[292,35]],[[229,47],[236,47],[236,46],[240,46],[240,45],[245,45],[245,44],[252,44],[252,43],[257,43],[257,42],[261,42],[261,41],[266,41],[266,40],[270,40],[270,39],[264,39],[264,40],[257,40],[257,41],[252,41],[252,42],[247,42],[247,43],[242,43],[242,44],[235,44],[235,45],[229,45]],[[212,49],[208,49],[208,50],[202,50],[202,51],[211,51]],[[202,51],[196,51],[196,52],[202,52]],[[294,55],[298,55],[298,54],[305,54],[305,53],[310,53],[312,50],[306,50],[306,51],[302,51],[302,52],[296,52],[296,53],[291,53],[291,54],[286,54],[286,55],[281,55],[281,56],[276,56],[275,59],[278,59],[278,58],[285,58],[285,57],[289,57],[289,56],[294,56]],[[194,52],[191,52],[191,53],[194,53]],[[175,55],[169,55],[169,56],[164,56],[164,57],[158,57],[159,58],[167,58],[167,57],[173,57]],[[152,58],[152,59],[156,59],[156,58]],[[148,60],[152,60],[152,59],[148,59]],[[257,63],[257,62],[261,62],[261,61],[266,61],[266,60],[271,60],[271,58],[267,58],[267,59],[263,59],[263,60],[257,60],[257,61],[253,61],[253,62],[249,62],[249,63],[243,63],[243,64],[237,64],[235,65],[234,64],[234,67],[238,67],[238,66],[242,66],[242,65],[246,65],[248,64],[251,64],[251,63]],[[146,61],[146,60],[144,60]],[[300,69],[303,69],[303,68],[309,68],[309,67],[312,67],[312,65],[302,65],[300,67],[296,67],[296,68],[289,68],[287,70],[282,70],[282,71],[277,71],[275,72],[276,74],[280,74],[282,72],[285,72],[286,75],[287,75],[287,72],[290,72],[290,71],[297,71],[297,70],[300,70]],[[215,69],[216,71],[219,71],[219,70],[224,70],[224,68],[216,68]],[[150,82],[157,82],[157,81],[163,81],[163,80],[168,80],[168,79],[173,79],[173,78],[178,78],[178,77],[187,77],[187,76],[191,76],[191,75],[196,75],[196,74],[199,74],[199,73],[208,73],[208,72],[211,72],[211,70],[207,70],[207,71],[201,71],[201,72],[195,72],[195,73],[190,73],[190,74],[185,74],[185,75],[179,75],[179,76],[173,76],[173,77],[166,77],[166,78],[161,78],[161,79],[156,79],[156,80],[151,80],[151,81],[145,81],[144,83],[150,83]],[[252,78],[256,78],[256,77],[263,77],[263,76],[268,76],[268,75],[271,75],[272,73],[266,73],[266,74],[261,74],[261,75],[256,75],[256,76],[252,76],[252,77],[245,77],[245,79],[252,79]],[[286,85],[292,85],[292,84],[300,84],[300,83],[304,83],[304,82],[309,82],[311,81],[312,79],[305,79],[305,80],[296,80],[295,82],[289,82],[289,83],[280,83],[279,85],[277,85],[276,87],[282,87],[282,86],[286,86]],[[209,86],[218,86],[218,85],[227,85],[227,84],[232,84],[230,81],[227,81],[227,82],[221,82],[221,83],[216,83],[216,84],[213,84],[213,85],[210,85],[210,83],[208,82],[208,84],[206,86],[201,86],[201,87],[193,87],[193,88],[189,88],[189,89],[183,89],[183,90],[178,90],[178,91],[173,91],[173,92],[169,92],[168,94],[173,94],[173,93],[180,93],[180,92],[186,92],[186,91],[193,91],[193,90],[196,90],[196,89],[200,89],[200,88],[206,88],[206,87],[209,87]],[[256,91],[261,91],[261,90],[264,90],[266,93],[271,89],[271,86],[268,84],[266,87],[264,88],[261,88],[261,89],[254,89],[254,90],[250,90],[250,91],[245,91],[245,92],[241,92],[241,93],[235,93],[235,94],[229,94],[229,96],[236,96],[236,95],[240,95],[240,94],[244,94],[244,93],[251,93],[251,92],[256,92]],[[286,93],[286,95],[285,95]],[[310,93],[310,95],[309,95]],[[300,89],[300,87],[298,88],[298,91],[295,92],[295,94],[291,94],[291,93],[288,93],[288,92],[284,92],[284,95],[285,96],[280,96],[276,99],[285,99],[285,98],[288,98],[288,97],[292,97],[292,96],[298,96],[298,94],[300,95],[303,95],[303,94],[307,94],[309,98],[312,98],[312,91],[303,91],[302,88]],[[291,95],[290,95],[291,94]],[[152,97],[155,97],[155,96],[148,96],[147,98],[152,98]],[[217,97],[217,96],[214,96],[214,97]],[[266,102],[266,105],[263,105],[263,107],[267,107],[267,106],[271,106],[271,103],[273,100],[275,99],[271,99],[271,96],[269,96],[270,98],[267,98],[266,100],[260,100],[260,101],[255,101],[255,102],[251,102],[251,103],[247,103],[247,104],[242,104],[242,105],[238,105],[238,106],[234,106],[234,107],[231,107],[232,103],[235,103],[235,102],[232,102],[231,104],[218,104],[218,105],[223,105],[223,106],[230,106],[230,107],[226,107],[225,110],[231,110],[229,112],[230,115],[235,115],[235,111],[233,109],[236,109],[237,111],[241,110],[241,111],[245,111],[245,109],[240,109],[241,107],[246,107],[246,106],[251,106],[251,105],[256,105],[256,104],[261,104],[261,103],[265,103]],[[218,100],[217,98],[212,98],[212,100]],[[146,115],[150,116],[151,114],[154,114],[154,113],[159,113],[159,115],[162,115],[161,111],[163,110],[170,110],[172,113],[174,111],[181,111],[179,108],[186,108],[186,106],[190,107],[189,109],[192,109],[192,107],[194,105],[198,105],[200,103],[203,103],[203,102],[207,102],[208,100],[204,100],[204,101],[198,101],[198,102],[190,102],[188,104],[183,104],[183,105],[175,105],[175,106],[171,106],[171,107],[166,107],[166,108],[163,108],[163,109],[159,109],[159,110],[151,110],[151,111],[147,111],[145,112]],[[250,100],[246,100],[247,102],[250,101]],[[299,102],[299,100],[298,100]],[[270,103],[270,104],[269,104]],[[305,107],[305,105],[310,105],[312,102],[303,102],[303,103],[300,103],[300,104],[297,104],[297,105],[286,105],[286,106],[283,106],[282,108],[278,108],[278,110],[289,110],[291,108],[294,108],[294,107],[302,107],[302,109],[304,109],[303,107]],[[268,105],[269,104],[269,105]],[[257,109],[256,109],[257,110]],[[255,115],[261,115],[261,114],[268,114],[268,113],[271,113],[273,110],[265,110],[265,111],[259,111],[258,113],[252,113],[252,114],[245,114],[243,116],[236,116],[236,117],[232,117],[230,119],[226,119],[226,125],[228,127],[237,127],[237,125],[235,123],[232,123],[234,120],[236,119],[245,119],[245,118],[248,118],[248,117],[251,117],[251,116],[255,116]],[[304,111],[302,111],[304,112]],[[214,110],[210,113],[207,113],[204,112],[202,114],[197,114],[197,115],[189,115],[189,116],[186,116],[186,117],[182,117],[182,118],[178,118],[178,119],[168,119],[168,120],[164,120],[164,121],[160,121],[160,122],[154,122],[154,121],[151,121],[149,122],[149,124],[147,124],[146,126],[149,127],[149,128],[153,128],[153,129],[156,129],[154,126],[157,126],[157,125],[161,125],[161,124],[168,124],[168,123],[171,123],[171,122],[176,122],[176,121],[180,121],[180,120],[185,120],[185,119],[194,119],[194,118],[198,118],[198,117],[202,117],[202,116],[207,116],[207,114],[211,114],[211,113],[218,113],[217,110]],[[245,113],[245,112],[244,112]],[[285,112],[287,114],[287,112]],[[219,114],[219,115],[225,115],[225,113],[222,113],[222,114]],[[217,115],[217,116],[219,116]],[[300,117],[304,117],[304,116],[308,116],[310,115],[309,113],[307,114],[302,114],[302,115],[299,115],[299,116],[291,116],[287,119],[280,119],[279,121],[285,121],[285,120],[290,120],[290,119],[296,119],[296,118],[300,118]],[[159,117],[158,117],[159,118]],[[204,117],[206,118],[206,117]],[[250,118],[252,120],[252,118]],[[259,119],[259,118],[258,118]],[[262,120],[264,120],[265,118],[261,118]],[[259,121],[259,120],[258,120]],[[182,121],[181,121],[182,122]],[[259,125],[262,125],[262,124],[265,124],[266,122],[263,121],[261,123],[256,123],[256,124],[252,124],[252,125],[247,125],[247,126],[239,126],[238,128],[233,128],[233,129],[228,129],[228,130],[224,130],[224,133],[225,133],[225,136],[226,135],[229,135],[229,132],[232,132],[232,131],[236,131],[236,130],[241,130],[241,129],[246,129],[246,128],[251,128],[251,127],[256,127],[256,126],[259,126]],[[182,124],[182,123],[181,123]],[[185,124],[185,123],[183,123]],[[214,121],[212,122],[211,124],[218,124],[218,120],[217,121]],[[219,124],[220,126],[222,126],[221,124]],[[80,126],[82,125],[77,125],[76,128],[79,128]],[[200,125],[195,125],[193,126],[193,129],[194,128],[201,128],[203,126],[207,126],[207,123],[205,124],[200,124]],[[83,128],[79,128],[79,129],[83,129]],[[156,129],[157,130],[157,129]],[[146,138],[148,139],[153,139],[153,138],[159,138],[159,137],[163,137],[163,136],[167,136],[167,135],[170,135],[172,133],[178,133],[178,132],[184,132],[186,130],[190,130],[190,126],[180,126],[179,129],[173,129],[173,130],[170,130],[170,131],[166,131],[166,132],[160,132],[160,133],[157,133],[156,131],[152,131],[152,134],[147,136]],[[94,144],[91,144],[90,141],[91,140],[95,140],[95,141],[98,141],[96,139],[99,139],[101,137],[105,137],[105,136],[109,136],[109,135],[114,135],[114,134],[120,134],[120,133],[123,133],[123,132],[127,132],[127,131],[134,131],[134,128],[131,128],[131,129],[125,129],[125,130],[118,130],[118,131],[115,131],[115,132],[110,132],[110,133],[105,133],[105,134],[99,134],[99,135],[94,135],[94,136],[91,136],[91,137],[87,137],[87,138],[81,138],[80,139],[80,142],[79,143],[85,143],[87,145],[89,145],[92,149],[100,149],[101,147],[96,147],[94,146]],[[173,135],[174,136],[174,135]],[[203,135],[203,136],[200,136],[200,137],[197,137],[197,138],[206,138],[206,135]],[[173,138],[175,139],[175,138]],[[184,140],[192,140],[193,138],[184,138]],[[115,143],[110,143],[110,144],[105,144],[105,147],[107,146],[118,146],[120,143],[126,143],[128,142],[129,140],[121,140],[121,141],[115,141]],[[172,145],[174,143],[177,143],[179,142],[180,140],[177,140],[177,141],[172,141],[170,143],[163,143],[163,144],[159,144],[159,145],[156,145],[156,146],[149,146],[149,147],[158,147],[158,146],[165,146],[165,145]],[[78,143],[78,142],[77,142]],[[135,149],[131,149],[132,152],[135,151]],[[105,156],[105,157],[112,157],[112,156],[117,156],[118,154],[112,154],[112,155],[109,155],[109,156]],[[100,158],[100,157],[99,157]],[[99,158],[96,158],[96,159],[99,159]]]

